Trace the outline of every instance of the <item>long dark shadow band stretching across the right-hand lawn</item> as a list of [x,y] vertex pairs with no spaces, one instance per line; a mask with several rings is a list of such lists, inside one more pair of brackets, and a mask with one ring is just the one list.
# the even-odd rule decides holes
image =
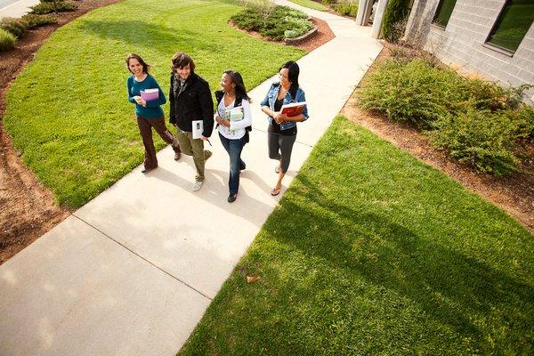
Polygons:
[[[506,326],[508,334],[498,333],[497,337],[504,337],[506,344],[511,344],[500,346],[530,349],[534,290],[520,278],[443,245],[437,241],[443,238],[433,236],[432,232],[417,233],[392,222],[386,214],[363,213],[358,206],[340,205],[321,193],[317,183],[304,173],[295,179],[298,188],[294,186],[294,194],[283,199],[279,210],[263,227],[272,239],[295,247],[304,255],[320,257],[333,270],[342,269],[348,275],[405,295],[427,315],[449,325],[461,336],[485,344],[485,336]],[[302,193],[304,201],[319,206],[317,211],[330,213],[321,214],[309,205],[301,206],[300,198],[291,198],[295,193]],[[282,215],[284,218],[280,219]],[[280,222],[293,225],[286,229]],[[328,231],[306,233],[310,231],[310,222],[328,226]],[[425,221],[409,224],[417,227]],[[295,235],[299,230],[303,232]],[[484,330],[473,324],[473,314],[475,319],[485,320]]]

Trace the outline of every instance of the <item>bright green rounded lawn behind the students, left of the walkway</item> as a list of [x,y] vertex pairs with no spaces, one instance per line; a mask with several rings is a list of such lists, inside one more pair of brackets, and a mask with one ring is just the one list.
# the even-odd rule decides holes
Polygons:
[[[142,163],[124,58],[139,53],[168,91],[170,60],[191,54],[218,88],[237,69],[249,88],[304,52],[246,36],[227,25],[229,1],[126,0],[59,28],[7,93],[4,125],[24,163],[65,206],[82,206]],[[168,112],[168,104],[166,106]],[[157,141],[158,148],[164,142]]]

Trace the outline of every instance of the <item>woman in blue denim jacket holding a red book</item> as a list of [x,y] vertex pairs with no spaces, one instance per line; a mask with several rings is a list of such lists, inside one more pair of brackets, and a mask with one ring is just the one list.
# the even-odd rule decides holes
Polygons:
[[294,61],[287,61],[279,69],[280,81],[273,83],[263,99],[262,111],[269,116],[267,133],[269,158],[278,159],[279,164],[274,171],[279,174],[278,182],[272,188],[271,195],[279,195],[282,189],[282,179],[286,175],[291,150],[296,140],[296,123],[308,118],[308,109],[295,117],[287,117],[280,113],[282,105],[292,102],[306,101],[303,90],[298,85],[300,69]]

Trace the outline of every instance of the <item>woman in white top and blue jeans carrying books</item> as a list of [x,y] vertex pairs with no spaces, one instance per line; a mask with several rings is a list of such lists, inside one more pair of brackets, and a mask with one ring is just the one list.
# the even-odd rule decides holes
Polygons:
[[238,198],[239,173],[247,167],[241,159],[241,151],[248,142],[252,116],[250,114],[250,98],[239,72],[225,70],[221,78],[221,88],[223,88],[222,91],[215,92],[217,99],[215,121],[221,142],[230,156],[228,202],[233,203]]

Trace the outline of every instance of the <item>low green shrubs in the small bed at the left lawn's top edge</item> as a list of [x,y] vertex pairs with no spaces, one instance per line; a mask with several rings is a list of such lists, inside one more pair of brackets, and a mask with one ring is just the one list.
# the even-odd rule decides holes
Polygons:
[[231,17],[239,28],[259,32],[275,41],[302,36],[313,28],[304,12],[287,6],[274,6],[271,10],[257,5],[247,5]]

